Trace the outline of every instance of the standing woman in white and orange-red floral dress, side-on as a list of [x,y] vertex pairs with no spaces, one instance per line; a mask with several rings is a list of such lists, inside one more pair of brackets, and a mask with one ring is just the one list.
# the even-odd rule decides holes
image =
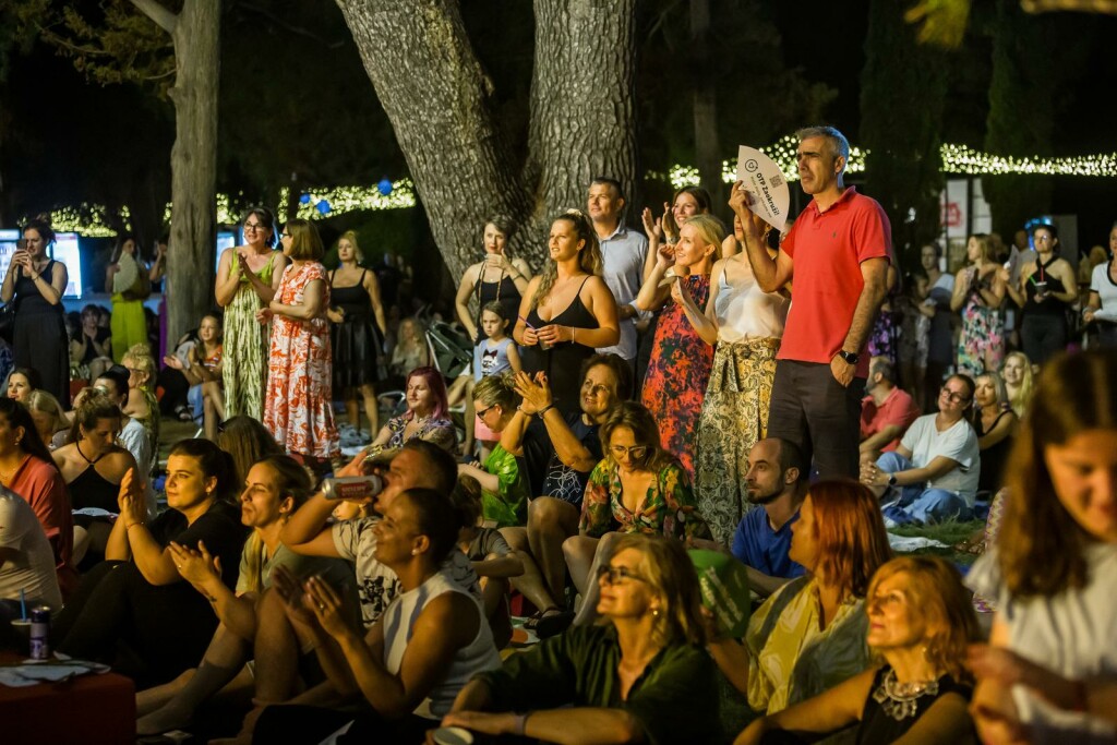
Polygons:
[[264,426],[284,450],[312,460],[338,455],[331,383],[330,284],[314,225],[290,220],[280,237],[290,259],[279,289],[256,314],[271,323]]

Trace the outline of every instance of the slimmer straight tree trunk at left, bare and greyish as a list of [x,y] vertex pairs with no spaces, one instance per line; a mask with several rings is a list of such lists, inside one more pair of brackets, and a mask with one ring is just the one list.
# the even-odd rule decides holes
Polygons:
[[170,94],[175,136],[164,293],[168,335],[175,340],[213,306],[221,2],[185,0],[176,16],[157,0],[132,3],[170,34],[174,45],[175,77]]

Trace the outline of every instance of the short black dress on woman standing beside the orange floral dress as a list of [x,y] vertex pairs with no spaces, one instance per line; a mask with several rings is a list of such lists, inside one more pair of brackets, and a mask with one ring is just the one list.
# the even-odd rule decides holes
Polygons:
[[330,336],[334,352],[334,389],[359,388],[379,383],[388,375],[384,360],[384,337],[376,325],[372,298],[364,288],[366,270],[350,287],[337,287],[334,275],[330,278],[330,298],[333,307],[345,312],[345,319],[331,324]]

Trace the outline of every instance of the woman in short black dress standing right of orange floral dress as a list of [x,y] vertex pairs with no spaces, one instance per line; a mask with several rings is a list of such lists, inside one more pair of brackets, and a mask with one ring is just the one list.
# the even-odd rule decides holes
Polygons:
[[375,273],[361,266],[364,256],[354,231],[337,240],[337,259],[341,266],[330,273],[332,305],[326,311],[332,323],[334,391],[344,395],[345,412],[354,431],[361,429],[360,391],[369,432],[375,433],[380,430],[375,384],[388,374],[384,360],[388,324],[380,300],[380,281]]

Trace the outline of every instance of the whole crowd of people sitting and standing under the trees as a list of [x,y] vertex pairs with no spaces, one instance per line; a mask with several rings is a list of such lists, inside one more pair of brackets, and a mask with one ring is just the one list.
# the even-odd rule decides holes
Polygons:
[[[533,274],[493,216],[460,374],[353,232],[327,270],[313,222],[249,210],[160,367],[139,319],[165,249],[122,239],[111,322],[68,329],[29,223],[0,288],[0,619],[50,608],[59,651],[135,681],[143,736],[247,698],[237,742],[1115,742],[1114,261],[1081,312],[1101,348],[1067,354],[1053,226],[1004,264],[974,236],[953,276],[924,247],[900,281],[848,155],[799,133],[783,235],[741,183],[731,229],[688,187],[641,233],[602,176]],[[204,437],[156,489],[168,413]],[[891,547],[986,514],[966,576]],[[688,550],[743,571],[745,625]],[[537,643],[502,653],[514,598]]]

